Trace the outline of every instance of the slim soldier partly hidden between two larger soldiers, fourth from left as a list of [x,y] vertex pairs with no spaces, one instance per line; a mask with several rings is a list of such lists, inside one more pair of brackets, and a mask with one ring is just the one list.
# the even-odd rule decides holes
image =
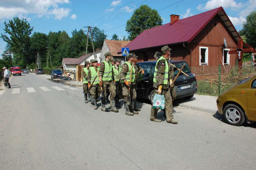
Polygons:
[[115,104],[117,108],[120,108],[120,103],[119,103],[119,96],[120,92],[122,92],[122,84],[120,81],[120,72],[121,72],[121,67],[120,67],[120,59],[115,60],[115,65],[113,65],[113,72],[114,72],[114,80],[115,80],[115,86],[116,86],[116,96],[115,96]]

